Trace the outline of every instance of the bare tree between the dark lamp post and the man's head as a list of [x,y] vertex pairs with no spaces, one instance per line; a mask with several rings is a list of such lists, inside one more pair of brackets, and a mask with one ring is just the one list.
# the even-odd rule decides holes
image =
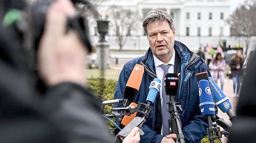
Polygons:
[[110,27],[115,31],[116,41],[121,51],[131,31],[135,30],[135,26],[140,18],[137,11],[124,9],[121,6],[113,5],[109,7],[109,10],[109,17],[111,18]]

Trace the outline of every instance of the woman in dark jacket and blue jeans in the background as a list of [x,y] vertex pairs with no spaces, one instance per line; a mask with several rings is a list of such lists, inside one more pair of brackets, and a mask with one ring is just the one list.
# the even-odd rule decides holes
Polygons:
[[[241,82],[241,75],[242,69],[244,64],[244,55],[241,49],[237,50],[237,53],[231,58],[229,62],[229,66],[231,68],[231,74],[233,79],[233,98],[238,96],[240,82]],[[237,83],[237,86],[236,86]],[[235,93],[235,86],[236,86],[236,93]]]

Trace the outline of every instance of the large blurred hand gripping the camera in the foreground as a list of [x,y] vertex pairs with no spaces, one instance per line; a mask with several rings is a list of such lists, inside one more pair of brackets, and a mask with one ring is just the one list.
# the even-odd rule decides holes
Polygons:
[[85,45],[73,29],[66,32],[67,18],[75,16],[69,0],[56,0],[46,14],[38,49],[39,71],[46,84],[71,81],[85,85]]

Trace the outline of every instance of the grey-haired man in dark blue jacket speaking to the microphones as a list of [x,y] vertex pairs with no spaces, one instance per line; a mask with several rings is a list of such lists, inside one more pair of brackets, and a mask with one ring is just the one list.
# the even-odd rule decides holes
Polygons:
[[[145,67],[141,86],[133,102],[146,103],[150,82],[154,78],[163,79],[166,73],[180,73],[179,91],[176,101],[182,107],[180,120],[186,142],[198,143],[206,135],[207,118],[203,117],[199,108],[198,84],[195,74],[207,71],[206,64],[197,54],[191,52],[184,44],[175,41],[175,28],[172,17],[162,10],[151,10],[143,21],[150,48],[145,56],[128,61],[120,73],[114,99],[123,98],[128,78],[136,64]],[[162,80],[163,81],[163,80]],[[162,90],[163,89],[163,90]],[[163,91],[163,92],[162,92]],[[168,108],[164,85],[160,88],[153,109],[143,125],[145,134],[141,136],[143,143],[175,143],[176,134],[168,134]],[[114,105],[120,107],[121,104]],[[166,114],[165,114],[166,113]]]

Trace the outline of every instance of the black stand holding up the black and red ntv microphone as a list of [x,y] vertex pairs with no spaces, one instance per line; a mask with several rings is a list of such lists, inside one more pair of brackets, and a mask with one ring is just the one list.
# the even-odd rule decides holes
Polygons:
[[177,105],[178,102],[175,101],[174,96],[170,95],[170,102],[167,104],[169,105],[169,113],[171,115],[171,118],[169,119],[169,134],[174,133],[172,127],[172,120],[175,121],[176,127],[177,127],[177,140],[176,142],[179,141],[179,143],[185,143],[185,137],[184,134],[182,133],[181,130],[181,121],[179,119],[179,113],[177,111],[177,107],[182,111],[181,106]]

